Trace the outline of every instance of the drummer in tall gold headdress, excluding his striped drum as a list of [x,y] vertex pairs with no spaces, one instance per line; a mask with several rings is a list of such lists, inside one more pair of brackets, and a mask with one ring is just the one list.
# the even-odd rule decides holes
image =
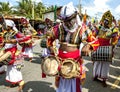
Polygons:
[[[100,21],[101,25],[96,25],[93,29],[96,37],[99,40],[100,46],[112,46],[114,47],[118,42],[118,28],[112,26],[113,15],[110,11],[106,11]],[[109,51],[110,52],[110,51]],[[102,52],[101,52],[102,53]],[[105,52],[106,53],[106,52]],[[111,53],[113,54],[113,53]],[[101,55],[101,54],[100,54]],[[112,57],[110,57],[112,58]],[[94,81],[97,81],[99,78],[102,79],[102,84],[104,87],[107,87],[107,79],[109,73],[109,65],[111,62],[107,61],[104,57],[104,61],[95,61],[93,64],[93,77]]]

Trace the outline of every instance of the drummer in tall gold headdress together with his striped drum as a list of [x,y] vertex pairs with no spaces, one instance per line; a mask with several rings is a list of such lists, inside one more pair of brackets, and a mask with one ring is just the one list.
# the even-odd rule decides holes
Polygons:
[[[98,53],[101,54],[96,53],[92,55],[92,60],[94,61],[93,77],[95,81],[101,78],[104,87],[107,86],[106,80],[108,79],[109,66],[112,63],[112,50],[114,45],[118,42],[118,28],[112,27],[112,19],[111,12],[107,11],[103,14],[100,25],[96,25],[96,28],[94,28],[94,32],[100,44],[97,50]],[[110,58],[110,60],[108,58]]]

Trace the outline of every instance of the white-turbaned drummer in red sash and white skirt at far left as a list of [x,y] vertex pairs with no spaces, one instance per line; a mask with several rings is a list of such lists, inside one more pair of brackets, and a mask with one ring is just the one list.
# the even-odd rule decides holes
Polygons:
[[[5,20],[6,23],[6,30],[3,34],[4,39],[4,53],[0,56],[0,62],[3,62],[7,65],[6,70],[6,81],[11,83],[11,87],[14,87],[16,85],[19,85],[19,89],[21,89],[24,85],[24,81],[22,78],[21,71],[16,68],[16,52],[17,52],[17,35],[18,32],[16,32],[13,27],[15,27],[14,22],[12,20]],[[9,56],[8,58],[5,58],[6,56]],[[2,61],[5,59],[4,61]],[[22,58],[21,58],[22,60]]]

